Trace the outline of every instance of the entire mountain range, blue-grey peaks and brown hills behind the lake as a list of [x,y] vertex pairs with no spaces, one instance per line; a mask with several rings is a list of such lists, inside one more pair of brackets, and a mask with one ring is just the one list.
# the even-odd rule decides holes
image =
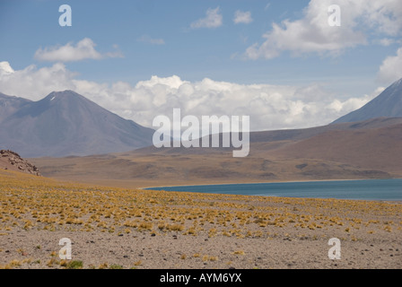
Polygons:
[[74,91],[39,101],[0,94],[0,112],[0,147],[35,157],[52,178],[154,187],[402,177],[402,80],[327,126],[251,132],[241,159],[232,148],[157,149],[152,129]]

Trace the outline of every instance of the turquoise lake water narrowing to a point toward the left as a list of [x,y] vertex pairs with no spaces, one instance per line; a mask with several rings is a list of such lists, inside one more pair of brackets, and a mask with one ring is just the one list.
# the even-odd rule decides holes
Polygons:
[[153,187],[147,189],[245,196],[402,200],[402,178]]

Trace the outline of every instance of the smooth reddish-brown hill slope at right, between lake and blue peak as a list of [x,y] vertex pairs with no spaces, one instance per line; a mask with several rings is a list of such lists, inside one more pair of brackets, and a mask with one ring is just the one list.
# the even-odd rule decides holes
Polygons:
[[380,128],[328,131],[275,150],[286,159],[337,161],[402,173],[402,123]]

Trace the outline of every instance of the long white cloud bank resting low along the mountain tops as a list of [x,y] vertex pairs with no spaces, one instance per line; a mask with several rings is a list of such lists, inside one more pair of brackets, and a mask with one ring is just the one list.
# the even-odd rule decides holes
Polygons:
[[326,125],[373,98],[364,95],[341,100],[320,84],[239,84],[208,78],[188,82],[177,75],[154,75],[131,85],[78,80],[63,64],[39,69],[30,65],[11,74],[2,73],[4,67],[10,69],[0,64],[0,87],[5,94],[40,100],[51,91],[69,89],[121,117],[151,127],[154,117],[171,118],[174,108],[181,109],[182,117],[249,116],[251,130]]

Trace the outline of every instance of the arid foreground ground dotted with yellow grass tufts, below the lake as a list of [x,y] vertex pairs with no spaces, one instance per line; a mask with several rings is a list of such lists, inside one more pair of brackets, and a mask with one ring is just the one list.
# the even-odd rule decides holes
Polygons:
[[[0,170],[1,268],[398,268],[398,202],[95,187]],[[72,241],[62,260],[59,240]],[[340,239],[329,259],[328,239]]]

